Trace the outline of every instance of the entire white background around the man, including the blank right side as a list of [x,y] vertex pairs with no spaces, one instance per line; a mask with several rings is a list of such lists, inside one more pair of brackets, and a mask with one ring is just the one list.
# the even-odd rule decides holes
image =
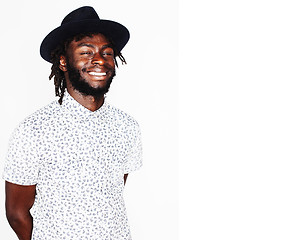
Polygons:
[[[1,157],[54,98],[41,40],[86,3],[132,34],[108,98],[143,131],[145,165],[125,193],[134,239],[177,239],[178,226],[182,240],[296,239],[294,1],[2,4]],[[4,212],[0,224],[15,239]]]

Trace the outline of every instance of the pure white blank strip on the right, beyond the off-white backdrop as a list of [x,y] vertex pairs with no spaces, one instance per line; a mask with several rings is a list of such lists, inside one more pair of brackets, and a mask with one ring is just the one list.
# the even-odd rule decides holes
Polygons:
[[296,239],[296,2],[180,6],[180,239]]

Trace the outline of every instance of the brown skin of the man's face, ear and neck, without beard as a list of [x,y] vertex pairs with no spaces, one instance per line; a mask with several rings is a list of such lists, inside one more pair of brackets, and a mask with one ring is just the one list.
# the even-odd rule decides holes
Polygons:
[[[107,72],[106,76],[93,76],[91,72],[106,72],[108,67],[115,69],[114,51],[109,41],[102,34],[93,35],[93,37],[84,37],[80,41],[72,41],[67,49],[68,61],[80,73],[81,77],[93,88],[106,86],[107,80],[111,73]],[[82,106],[90,111],[98,110],[104,103],[104,95],[97,98],[85,96],[75,90],[69,80],[67,72],[66,56],[60,57],[60,69],[65,74],[67,91]],[[86,71],[83,71],[86,69]]]

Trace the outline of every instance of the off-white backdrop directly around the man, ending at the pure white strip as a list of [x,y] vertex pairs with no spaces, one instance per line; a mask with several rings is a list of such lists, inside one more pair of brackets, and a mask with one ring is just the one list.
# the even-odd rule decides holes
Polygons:
[[[177,1],[2,2],[1,167],[12,130],[55,99],[48,80],[51,65],[39,55],[41,41],[83,5],[93,6],[102,19],[118,21],[131,33],[122,51],[128,64],[120,64],[107,98],[134,116],[143,134],[144,166],[129,175],[125,189],[133,239],[177,239]],[[4,182],[0,193],[0,238],[14,240],[5,218]]]

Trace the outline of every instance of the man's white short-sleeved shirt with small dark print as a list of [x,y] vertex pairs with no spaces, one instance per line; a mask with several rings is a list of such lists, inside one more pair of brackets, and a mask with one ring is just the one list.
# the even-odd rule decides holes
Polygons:
[[33,240],[130,240],[123,176],[141,165],[132,117],[106,101],[91,112],[66,92],[16,128],[3,177],[36,184]]

